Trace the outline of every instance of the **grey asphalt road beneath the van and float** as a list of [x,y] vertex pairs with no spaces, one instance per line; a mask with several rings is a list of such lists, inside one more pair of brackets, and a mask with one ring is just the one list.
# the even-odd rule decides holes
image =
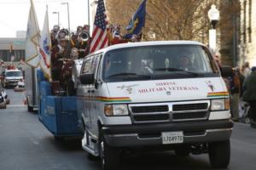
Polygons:
[[[0,170],[100,170],[100,161],[90,161],[79,140],[55,140],[26,111],[22,93],[7,91],[11,104],[0,110]],[[230,170],[256,169],[256,129],[236,123],[231,137]],[[124,170],[211,169],[207,155],[178,157],[172,151],[126,158]]]

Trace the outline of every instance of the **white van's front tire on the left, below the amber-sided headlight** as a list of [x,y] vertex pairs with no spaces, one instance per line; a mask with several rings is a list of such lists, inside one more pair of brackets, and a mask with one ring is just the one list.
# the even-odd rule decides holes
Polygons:
[[109,146],[105,139],[100,143],[102,170],[118,170],[120,154],[117,148]]

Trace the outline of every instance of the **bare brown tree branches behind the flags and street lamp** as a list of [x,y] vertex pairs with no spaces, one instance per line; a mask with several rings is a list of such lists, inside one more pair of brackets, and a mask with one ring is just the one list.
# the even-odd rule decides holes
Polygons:
[[[119,23],[125,32],[125,26],[131,20],[143,0],[107,0],[110,23]],[[219,6],[221,20],[218,29],[225,35],[224,41],[230,41],[234,30],[230,17],[239,13],[236,0],[148,0],[144,40],[196,40],[208,42],[210,22],[207,12],[212,3]]]

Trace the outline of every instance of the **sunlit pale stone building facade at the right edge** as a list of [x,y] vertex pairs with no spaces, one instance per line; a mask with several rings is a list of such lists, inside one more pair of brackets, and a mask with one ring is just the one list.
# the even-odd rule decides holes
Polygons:
[[239,44],[239,65],[249,62],[256,66],[256,1],[240,0],[241,3],[241,37]]

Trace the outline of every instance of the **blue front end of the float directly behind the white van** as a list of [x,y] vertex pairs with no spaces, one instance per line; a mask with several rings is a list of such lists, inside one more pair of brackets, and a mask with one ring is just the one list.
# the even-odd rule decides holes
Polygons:
[[70,96],[43,96],[39,120],[55,136],[82,136],[77,99]]

